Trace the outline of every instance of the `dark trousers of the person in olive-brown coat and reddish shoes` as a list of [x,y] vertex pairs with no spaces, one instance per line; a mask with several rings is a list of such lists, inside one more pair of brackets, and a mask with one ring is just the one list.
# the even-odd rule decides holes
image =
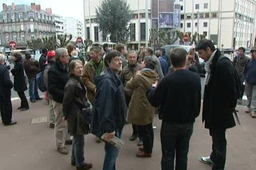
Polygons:
[[139,136],[143,139],[143,148],[145,153],[152,153],[154,143],[154,130],[152,123],[148,125],[138,125]]

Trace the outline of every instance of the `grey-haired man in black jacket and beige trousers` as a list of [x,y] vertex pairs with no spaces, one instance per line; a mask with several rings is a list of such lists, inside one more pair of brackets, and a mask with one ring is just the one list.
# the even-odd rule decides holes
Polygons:
[[62,102],[64,98],[64,87],[69,80],[68,63],[70,57],[66,48],[58,48],[55,52],[56,62],[48,71],[48,91],[52,95],[52,106],[55,113],[54,133],[56,147],[61,154],[68,154],[65,144],[71,144],[72,141],[67,134],[67,122],[62,120]]

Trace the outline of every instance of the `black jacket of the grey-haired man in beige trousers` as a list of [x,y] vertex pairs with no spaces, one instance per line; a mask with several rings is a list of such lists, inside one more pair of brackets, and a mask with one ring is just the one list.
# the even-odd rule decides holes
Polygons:
[[64,88],[69,80],[67,66],[60,61],[56,61],[48,71],[48,91],[52,95],[52,100],[58,103],[63,102]]

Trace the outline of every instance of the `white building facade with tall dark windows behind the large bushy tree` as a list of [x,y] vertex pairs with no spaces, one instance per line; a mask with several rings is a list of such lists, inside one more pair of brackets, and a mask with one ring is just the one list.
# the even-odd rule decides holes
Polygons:
[[[148,45],[149,29],[151,28],[151,0],[127,0],[132,10],[130,26],[131,48]],[[102,0],[84,0],[84,30],[85,38],[93,42],[111,41],[103,40],[102,32],[96,23],[96,7],[101,5]]]

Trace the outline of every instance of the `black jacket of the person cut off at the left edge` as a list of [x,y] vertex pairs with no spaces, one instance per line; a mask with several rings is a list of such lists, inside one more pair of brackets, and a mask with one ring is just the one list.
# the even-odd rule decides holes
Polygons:
[[13,88],[12,81],[9,76],[9,70],[3,64],[0,64],[0,95],[5,95]]

